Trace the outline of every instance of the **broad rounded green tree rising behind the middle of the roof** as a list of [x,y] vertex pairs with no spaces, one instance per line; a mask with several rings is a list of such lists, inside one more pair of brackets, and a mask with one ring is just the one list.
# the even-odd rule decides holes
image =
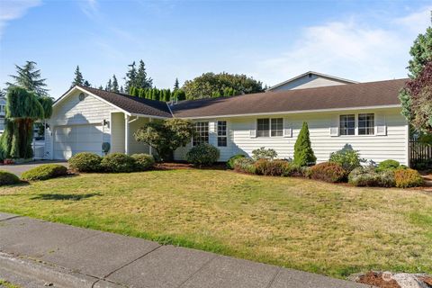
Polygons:
[[263,92],[263,84],[246,75],[204,73],[184,82],[186,99],[199,99]]

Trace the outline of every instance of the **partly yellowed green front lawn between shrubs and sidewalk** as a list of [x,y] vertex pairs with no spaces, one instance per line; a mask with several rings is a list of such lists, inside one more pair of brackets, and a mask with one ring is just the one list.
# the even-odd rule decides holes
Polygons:
[[432,273],[432,194],[221,170],[0,188],[0,211],[345,277]]

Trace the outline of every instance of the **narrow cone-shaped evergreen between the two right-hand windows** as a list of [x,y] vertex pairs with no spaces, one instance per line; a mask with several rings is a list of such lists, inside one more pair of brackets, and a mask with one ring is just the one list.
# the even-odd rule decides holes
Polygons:
[[311,139],[309,138],[308,123],[303,122],[302,130],[294,145],[293,163],[298,166],[311,166],[317,161],[311,148]]

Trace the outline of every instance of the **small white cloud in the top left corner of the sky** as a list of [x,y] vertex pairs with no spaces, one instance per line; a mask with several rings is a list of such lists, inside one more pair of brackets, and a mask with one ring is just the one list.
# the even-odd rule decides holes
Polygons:
[[32,7],[42,4],[40,0],[2,0],[0,1],[0,40],[7,23],[23,17]]

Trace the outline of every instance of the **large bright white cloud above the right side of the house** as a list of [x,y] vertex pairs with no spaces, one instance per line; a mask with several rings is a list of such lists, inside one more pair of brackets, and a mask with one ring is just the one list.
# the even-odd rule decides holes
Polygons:
[[256,75],[271,85],[308,70],[358,81],[404,77],[412,41],[429,19],[430,7],[386,20],[392,28],[354,19],[308,27],[285,52],[260,61],[257,71],[266,72]]

